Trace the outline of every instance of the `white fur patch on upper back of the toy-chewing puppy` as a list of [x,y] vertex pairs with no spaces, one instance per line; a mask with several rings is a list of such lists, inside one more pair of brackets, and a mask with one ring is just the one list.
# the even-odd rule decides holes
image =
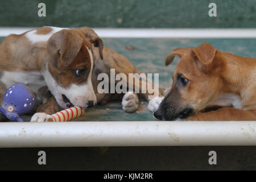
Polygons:
[[49,32],[46,35],[42,35],[42,34],[36,34],[36,30],[32,30],[30,32],[27,32],[25,34],[25,36],[28,38],[28,40],[30,40],[30,42],[32,44],[36,43],[36,42],[47,42],[47,40],[56,32],[61,31],[63,29],[68,29],[68,28],[59,28],[59,27],[50,27],[52,28],[52,31]]

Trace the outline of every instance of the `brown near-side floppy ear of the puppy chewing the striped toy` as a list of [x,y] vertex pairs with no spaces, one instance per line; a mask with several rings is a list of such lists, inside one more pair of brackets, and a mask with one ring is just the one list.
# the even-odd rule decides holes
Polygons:
[[52,55],[60,54],[60,61],[65,67],[70,65],[79,53],[82,38],[70,30],[61,30],[49,38],[47,48]]

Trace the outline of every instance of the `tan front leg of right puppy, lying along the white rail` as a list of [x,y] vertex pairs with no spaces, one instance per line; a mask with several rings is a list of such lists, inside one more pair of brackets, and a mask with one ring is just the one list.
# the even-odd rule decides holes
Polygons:
[[241,110],[233,107],[223,107],[207,113],[197,113],[189,116],[187,121],[254,121],[256,110]]

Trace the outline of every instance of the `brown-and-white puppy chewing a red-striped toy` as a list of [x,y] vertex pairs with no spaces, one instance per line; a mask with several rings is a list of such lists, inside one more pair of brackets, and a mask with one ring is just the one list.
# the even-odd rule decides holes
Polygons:
[[[39,95],[51,93],[31,118],[43,122],[61,109],[92,107],[117,97],[97,93],[97,75],[110,68],[126,74],[138,71],[126,57],[104,47],[91,28],[42,27],[12,34],[0,45],[0,96],[13,84],[26,85]],[[138,96],[125,96],[123,108],[135,111]],[[151,107],[155,109],[159,103],[160,97],[151,101]]]

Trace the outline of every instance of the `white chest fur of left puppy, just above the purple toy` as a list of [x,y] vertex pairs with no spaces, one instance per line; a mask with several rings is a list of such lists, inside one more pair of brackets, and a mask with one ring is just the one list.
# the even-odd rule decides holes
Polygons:
[[46,82],[40,72],[3,72],[0,81],[5,84],[7,88],[14,84],[23,84],[28,86],[34,93],[42,86],[46,86]]

